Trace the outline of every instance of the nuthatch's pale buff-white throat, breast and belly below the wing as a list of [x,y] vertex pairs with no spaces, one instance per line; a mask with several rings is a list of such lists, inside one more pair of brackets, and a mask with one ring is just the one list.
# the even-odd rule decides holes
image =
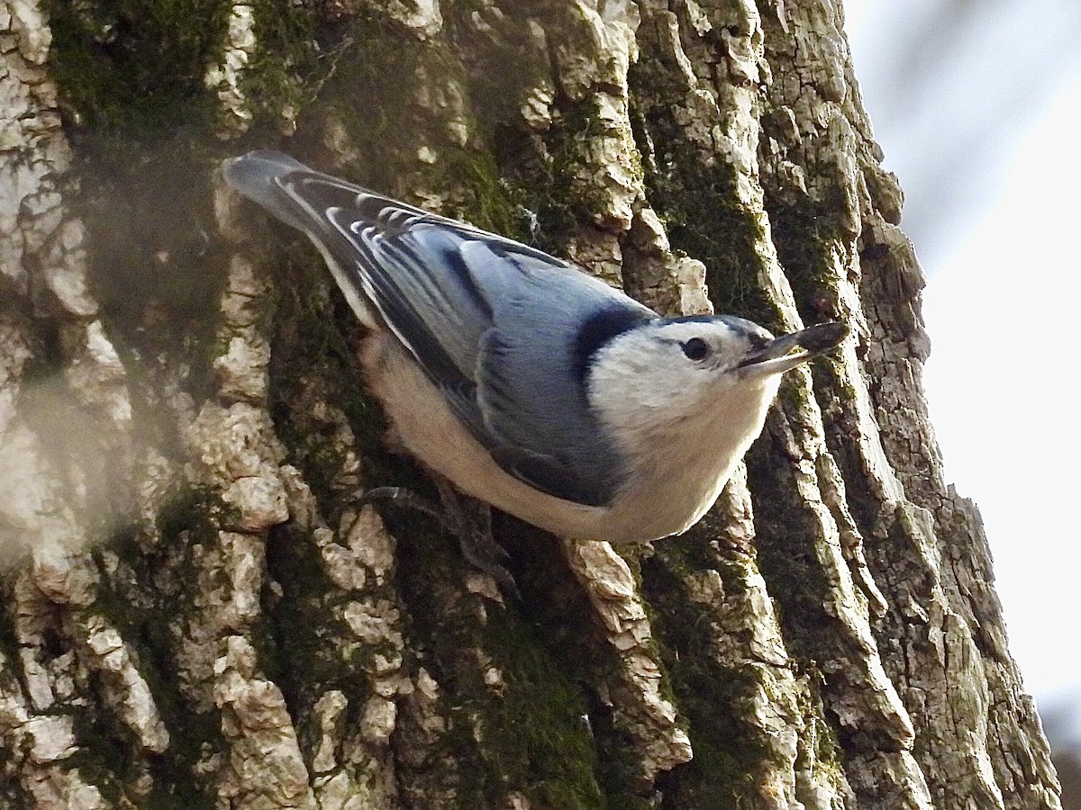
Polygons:
[[361,361],[396,438],[422,463],[467,495],[542,529],[612,543],[679,534],[702,517],[761,432],[777,390],[776,379],[768,379],[722,393],[707,407],[640,419],[620,433],[620,450],[635,459],[620,475],[625,485],[610,505],[587,507],[534,489],[496,464],[393,337],[376,332],[365,338]]

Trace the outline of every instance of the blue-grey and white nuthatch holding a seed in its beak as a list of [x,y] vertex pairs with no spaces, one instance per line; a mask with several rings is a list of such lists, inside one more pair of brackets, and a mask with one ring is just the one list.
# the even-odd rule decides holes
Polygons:
[[561,259],[281,152],[225,178],[322,253],[369,328],[397,435],[459,489],[563,537],[644,542],[712,505],[780,375],[848,334],[660,318]]

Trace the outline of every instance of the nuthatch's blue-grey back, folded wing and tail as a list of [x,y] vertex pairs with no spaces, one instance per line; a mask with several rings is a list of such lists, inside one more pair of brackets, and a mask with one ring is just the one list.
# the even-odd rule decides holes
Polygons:
[[279,152],[225,175],[320,246],[346,296],[375,308],[504,470],[566,500],[611,500],[623,470],[586,399],[588,361],[652,310],[540,251]]

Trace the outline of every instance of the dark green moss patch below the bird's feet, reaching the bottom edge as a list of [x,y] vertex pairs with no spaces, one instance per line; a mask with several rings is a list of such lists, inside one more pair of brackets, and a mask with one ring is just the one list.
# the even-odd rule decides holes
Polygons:
[[[512,608],[461,591],[453,538],[388,515],[400,545],[402,593],[418,661],[440,684],[449,728],[429,758],[462,767],[461,807],[498,807],[511,792],[531,805],[603,808],[598,757],[582,690],[545,639]],[[431,606],[439,605],[438,610]]]

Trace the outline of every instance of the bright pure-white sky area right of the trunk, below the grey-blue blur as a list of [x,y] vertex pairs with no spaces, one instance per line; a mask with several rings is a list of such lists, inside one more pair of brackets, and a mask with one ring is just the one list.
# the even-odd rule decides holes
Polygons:
[[[1005,186],[932,278],[930,407],[949,477],[980,508],[1026,687],[1081,693],[1081,81],[1035,122]],[[917,249],[919,249],[917,247]]]

